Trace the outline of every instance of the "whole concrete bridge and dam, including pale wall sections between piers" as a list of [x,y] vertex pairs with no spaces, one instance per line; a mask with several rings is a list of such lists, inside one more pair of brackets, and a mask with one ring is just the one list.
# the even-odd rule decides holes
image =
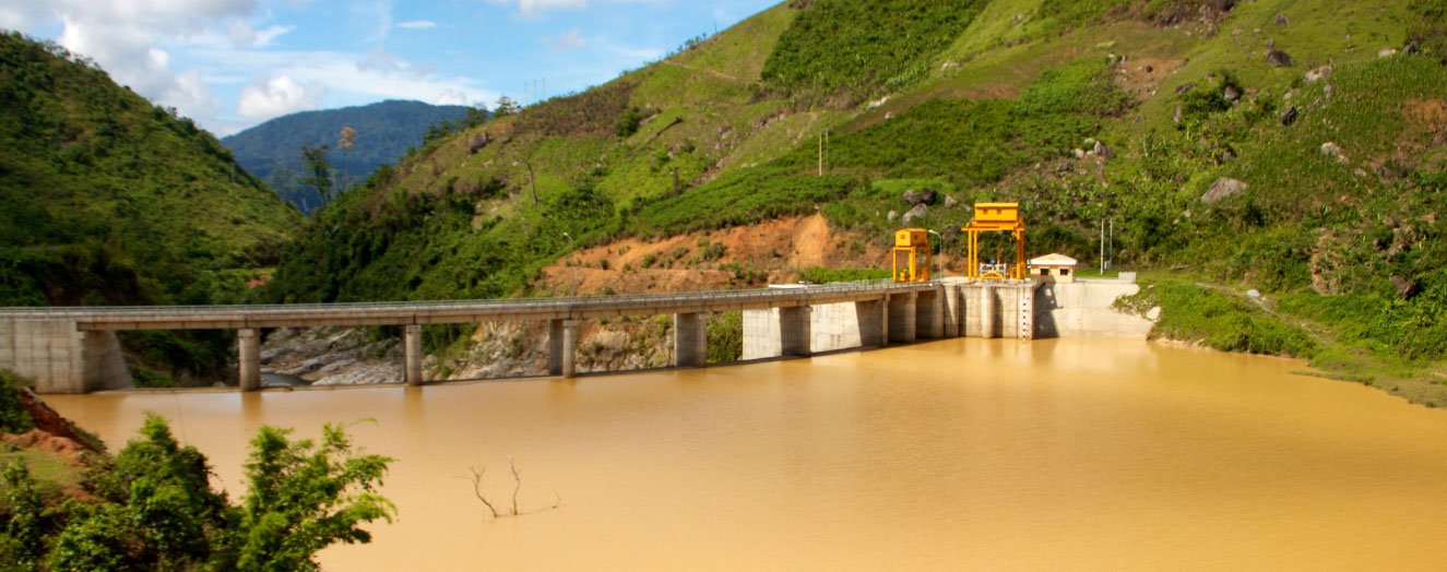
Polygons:
[[[423,324],[508,320],[548,321],[548,372],[573,377],[579,320],[616,316],[674,316],[674,365],[708,359],[708,314],[745,311],[745,359],[767,353],[807,356],[815,350],[883,346],[916,337],[983,335],[1030,337],[1035,282],[965,284],[890,281],[674,294],[566,298],[411,301],[284,306],[158,306],[0,308],[0,368],[36,381],[42,392],[88,392],[129,387],[116,332],[237,330],[243,391],[260,388],[265,327],[402,326],[405,381],[423,382]],[[964,294],[974,291],[974,297]],[[981,294],[983,293],[983,294]],[[1013,293],[1013,294],[1011,294]],[[1003,295],[1003,298],[1001,298]],[[967,303],[975,300],[977,303]],[[1000,311],[1003,307],[1017,311]],[[820,317],[813,308],[831,308]],[[974,333],[965,327],[974,308]],[[1019,321],[1023,316],[1027,321]],[[813,327],[816,323],[820,327]],[[815,332],[819,330],[819,332]],[[820,342],[822,339],[822,342]]]

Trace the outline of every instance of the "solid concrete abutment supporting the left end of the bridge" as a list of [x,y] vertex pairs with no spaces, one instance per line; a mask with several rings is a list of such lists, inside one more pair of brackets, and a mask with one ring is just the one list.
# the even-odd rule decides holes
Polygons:
[[133,387],[116,333],[78,332],[74,321],[0,320],[0,363],[42,394]]

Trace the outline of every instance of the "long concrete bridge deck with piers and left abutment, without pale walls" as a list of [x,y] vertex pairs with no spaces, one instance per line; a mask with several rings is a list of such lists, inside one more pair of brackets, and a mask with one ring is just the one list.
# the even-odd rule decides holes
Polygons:
[[[939,282],[893,284],[884,279],[799,288],[567,298],[0,308],[0,368],[35,378],[39,391],[87,392],[124,387],[130,374],[116,332],[234,329],[240,385],[256,390],[260,387],[260,329],[404,326],[405,378],[408,384],[420,384],[423,324],[547,320],[551,348],[548,371],[572,377],[579,320],[653,314],[674,314],[676,365],[700,366],[708,356],[708,313],[784,308],[794,317],[780,323],[776,333],[780,346],[790,348],[793,355],[807,355],[809,307],[888,301],[900,295],[913,300],[919,293],[938,288]],[[803,321],[797,316],[803,316]]]

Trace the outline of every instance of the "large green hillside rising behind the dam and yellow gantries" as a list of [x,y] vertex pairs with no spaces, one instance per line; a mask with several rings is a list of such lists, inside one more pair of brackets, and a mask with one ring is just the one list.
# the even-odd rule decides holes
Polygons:
[[1447,350],[1444,6],[794,0],[373,174],[268,295],[530,295],[563,232],[819,211],[883,245],[903,191],[928,187],[1022,201],[1030,252],[1094,259],[1111,220],[1117,266],[1171,285],[1137,301],[1166,306],[1163,335],[1367,382],[1356,365],[1375,363],[1447,403],[1425,375]]

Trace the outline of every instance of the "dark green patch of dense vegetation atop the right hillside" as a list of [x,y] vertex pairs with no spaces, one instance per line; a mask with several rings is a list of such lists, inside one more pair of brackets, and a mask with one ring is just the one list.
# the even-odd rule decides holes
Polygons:
[[909,87],[985,6],[978,0],[815,0],[764,62],[767,85],[858,100]]

